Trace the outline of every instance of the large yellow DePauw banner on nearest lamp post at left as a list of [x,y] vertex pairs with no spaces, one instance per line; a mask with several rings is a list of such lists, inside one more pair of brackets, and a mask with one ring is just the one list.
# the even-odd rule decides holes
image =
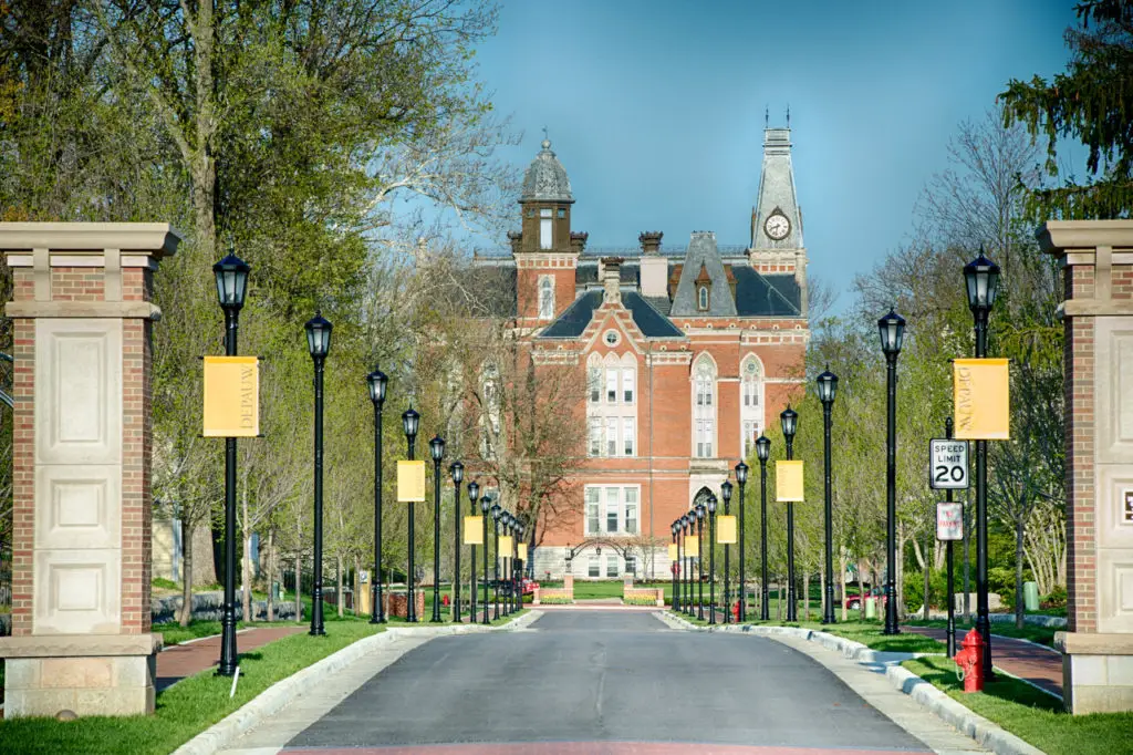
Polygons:
[[205,357],[205,438],[259,434],[259,359]]

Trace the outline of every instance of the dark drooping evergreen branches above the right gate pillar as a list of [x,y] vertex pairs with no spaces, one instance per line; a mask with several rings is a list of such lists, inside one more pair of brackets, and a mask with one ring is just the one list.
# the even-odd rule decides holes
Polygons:
[[1012,79],[999,94],[1004,124],[1023,124],[1032,136],[1047,139],[1046,170],[1058,164],[1058,139],[1073,137],[1089,149],[1088,180],[1073,173],[1060,186],[1034,187],[1028,214],[1048,218],[1125,218],[1133,207],[1133,5],[1127,0],[1082,0],[1079,28],[1066,29],[1072,59],[1066,71],[1048,82]]

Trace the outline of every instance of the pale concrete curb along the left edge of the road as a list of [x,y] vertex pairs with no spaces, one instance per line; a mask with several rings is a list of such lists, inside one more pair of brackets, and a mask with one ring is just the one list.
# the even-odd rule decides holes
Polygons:
[[322,679],[344,669],[358,659],[370,653],[375,648],[393,642],[398,637],[442,637],[444,635],[471,635],[492,631],[514,631],[525,629],[533,621],[538,619],[542,612],[531,610],[523,616],[509,621],[499,627],[485,627],[483,625],[448,625],[440,627],[391,627],[383,633],[363,637],[358,642],[347,645],[339,652],[327,655],[323,660],[308,665],[301,671],[297,671],[287,679],[281,679],[274,685],[256,695],[245,703],[240,709],[228,716],[221,719],[212,727],[205,729],[196,737],[185,743],[173,755],[212,755],[219,749],[228,747],[241,735],[258,726],[264,719],[274,715],[304,694],[304,690],[312,689]]

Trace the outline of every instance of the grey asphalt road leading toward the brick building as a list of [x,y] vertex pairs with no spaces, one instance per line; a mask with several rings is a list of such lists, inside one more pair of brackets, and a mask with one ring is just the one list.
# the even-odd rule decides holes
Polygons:
[[547,612],[531,629],[426,643],[300,732],[288,750],[683,743],[765,753],[930,752],[819,663],[770,639],[674,631],[650,613],[614,611]]

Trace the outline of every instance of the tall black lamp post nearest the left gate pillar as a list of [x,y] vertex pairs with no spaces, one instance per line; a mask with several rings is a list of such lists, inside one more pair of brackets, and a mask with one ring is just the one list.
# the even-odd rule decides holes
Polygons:
[[[236,356],[236,337],[240,329],[240,308],[248,288],[250,268],[229,252],[213,265],[216,297],[224,311],[224,354]],[[298,586],[299,576],[296,575]],[[221,611],[220,663],[216,675],[236,673],[236,439],[224,439],[224,605]]]

